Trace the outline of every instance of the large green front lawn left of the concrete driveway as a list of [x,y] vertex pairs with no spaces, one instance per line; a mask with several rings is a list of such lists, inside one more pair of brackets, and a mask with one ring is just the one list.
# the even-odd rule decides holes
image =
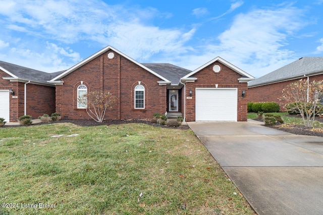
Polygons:
[[0,165],[1,214],[254,214],[190,130],[2,127]]

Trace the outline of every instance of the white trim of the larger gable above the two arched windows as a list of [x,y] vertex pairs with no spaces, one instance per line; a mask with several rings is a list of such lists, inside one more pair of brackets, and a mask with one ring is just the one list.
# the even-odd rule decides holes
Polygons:
[[72,66],[71,68],[67,69],[66,71],[64,71],[64,73],[60,74],[59,76],[51,79],[49,81],[49,83],[60,83],[60,79],[64,78],[65,76],[67,76],[68,74],[72,73],[74,70],[78,69],[79,67],[83,66],[84,64],[88,63],[89,61],[93,60],[94,58],[96,58],[97,56],[101,55],[102,53],[109,51],[109,50],[113,50],[115,52],[117,52],[118,54],[122,55],[123,57],[127,58],[128,60],[132,61],[133,63],[139,65],[140,67],[144,68],[145,70],[147,70],[149,73],[153,74],[154,76],[160,78],[161,80],[163,80],[164,82],[170,82],[169,80],[167,80],[166,78],[164,78],[163,76],[160,76],[159,74],[155,73],[155,71],[149,69],[148,67],[144,66],[143,64],[137,62],[136,60],[132,59],[131,57],[127,56],[126,54],[122,53],[121,51],[115,49],[112,46],[106,46],[105,48],[99,50],[98,52],[94,53],[93,55],[87,57],[86,59],[82,60],[81,62],[77,63],[76,65]]

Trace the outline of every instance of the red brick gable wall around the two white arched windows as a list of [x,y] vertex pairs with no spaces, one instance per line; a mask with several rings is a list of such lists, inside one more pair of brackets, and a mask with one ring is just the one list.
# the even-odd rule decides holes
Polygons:
[[[83,81],[89,91],[109,91],[117,98],[114,107],[107,110],[105,119],[144,119],[153,113],[166,111],[166,86],[159,86],[159,78],[114,52],[106,53],[64,77],[56,88],[56,112],[69,119],[91,119],[84,109],[77,109],[77,87]],[[145,87],[145,109],[134,108],[134,88],[138,82]]]

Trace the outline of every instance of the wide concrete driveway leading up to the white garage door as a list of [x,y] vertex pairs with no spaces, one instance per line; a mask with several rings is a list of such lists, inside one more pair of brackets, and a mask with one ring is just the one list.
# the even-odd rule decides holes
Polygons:
[[258,214],[323,214],[323,137],[261,122],[188,122]]

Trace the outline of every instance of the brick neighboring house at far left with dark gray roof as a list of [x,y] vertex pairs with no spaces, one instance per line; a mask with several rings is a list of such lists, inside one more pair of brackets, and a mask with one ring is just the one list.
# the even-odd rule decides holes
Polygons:
[[55,112],[55,85],[47,81],[58,74],[0,61],[0,117],[17,122]]

